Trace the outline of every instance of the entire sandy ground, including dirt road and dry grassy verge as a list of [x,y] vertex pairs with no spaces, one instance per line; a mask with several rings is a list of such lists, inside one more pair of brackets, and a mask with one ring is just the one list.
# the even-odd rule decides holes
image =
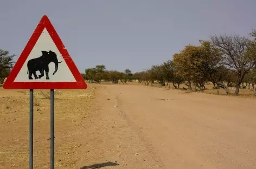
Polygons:
[[[210,95],[217,93],[212,85],[206,94],[168,88],[128,82],[57,90],[55,167],[256,165],[253,92],[217,96]],[[34,168],[49,168],[49,90],[34,90],[34,98]],[[1,87],[0,102],[0,168],[28,168],[29,90]]]

